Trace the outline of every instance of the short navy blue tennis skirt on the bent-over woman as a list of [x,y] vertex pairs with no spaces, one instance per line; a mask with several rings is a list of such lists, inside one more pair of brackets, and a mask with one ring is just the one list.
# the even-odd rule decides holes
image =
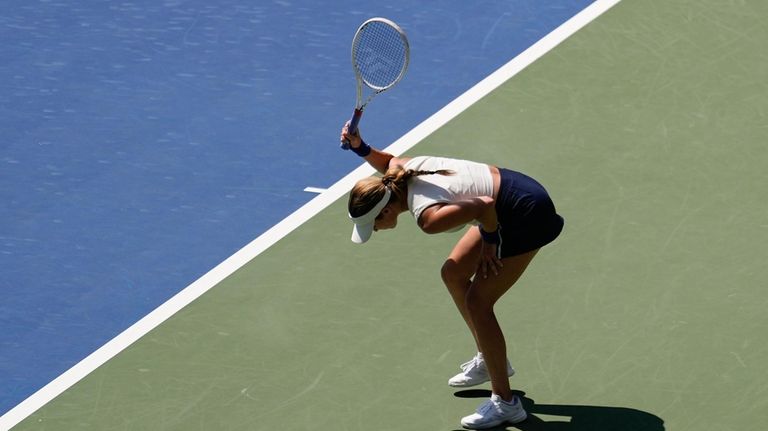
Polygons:
[[501,229],[499,257],[527,253],[554,241],[565,221],[544,186],[533,178],[499,168],[501,184],[496,214]]

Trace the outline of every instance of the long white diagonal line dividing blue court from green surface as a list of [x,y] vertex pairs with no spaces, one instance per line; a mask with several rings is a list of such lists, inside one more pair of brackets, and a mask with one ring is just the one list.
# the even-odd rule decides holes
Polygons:
[[[487,78],[480,81],[477,85],[446,105],[443,109],[416,126],[413,130],[403,135],[400,139],[387,147],[385,151],[399,155],[412,148],[419,141],[445,125],[448,121],[459,115],[511,77],[515,76],[518,72],[549,52],[552,48],[570,37],[579,29],[589,24],[603,12],[619,3],[619,1],[620,0],[596,0],[587,8],[574,15],[571,19],[523,51],[509,63],[496,70]],[[90,374],[93,370],[210,290],[213,286],[240,269],[264,250],[271,247],[294,229],[301,226],[304,222],[347,194],[358,179],[372,175],[373,173],[373,168],[368,165],[362,165],[347,174],[347,176],[339,180],[329,189],[307,202],[293,214],[264,232],[250,244],[243,247],[207,274],[200,277],[197,281],[190,284],[184,290],[144,316],[144,318],[121,332],[98,350],[88,355],[88,357],[65,371],[52,382],[32,394],[29,398],[22,401],[19,405],[9,410],[6,414],[0,417],[0,430],[8,430],[27,418],[59,394]],[[346,221],[342,221],[341,223],[344,222]]]

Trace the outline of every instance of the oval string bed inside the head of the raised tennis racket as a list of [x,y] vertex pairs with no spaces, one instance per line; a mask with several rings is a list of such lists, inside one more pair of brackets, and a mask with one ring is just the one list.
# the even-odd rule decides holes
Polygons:
[[365,83],[383,90],[398,81],[407,64],[407,46],[401,34],[382,22],[371,22],[355,44],[355,67]]

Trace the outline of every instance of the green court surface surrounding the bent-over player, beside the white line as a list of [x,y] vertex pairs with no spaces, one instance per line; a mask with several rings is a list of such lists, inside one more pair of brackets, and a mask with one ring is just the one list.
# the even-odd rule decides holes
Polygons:
[[[510,429],[768,425],[766,18],[624,0],[410,152],[526,172],[566,219],[496,308]],[[459,429],[489,388],[446,384],[474,354],[438,272],[460,234],[406,215],[356,246],[345,205],[14,429]]]

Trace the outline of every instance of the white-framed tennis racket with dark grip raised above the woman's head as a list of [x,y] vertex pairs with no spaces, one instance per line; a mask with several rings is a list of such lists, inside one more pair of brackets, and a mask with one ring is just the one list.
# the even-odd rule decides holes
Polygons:
[[[408,69],[410,47],[405,32],[386,18],[371,18],[357,29],[352,39],[352,69],[357,81],[357,103],[349,133],[357,131],[366,105],[378,94],[400,82]],[[363,87],[370,90],[363,94]],[[349,142],[342,140],[348,150]]]

